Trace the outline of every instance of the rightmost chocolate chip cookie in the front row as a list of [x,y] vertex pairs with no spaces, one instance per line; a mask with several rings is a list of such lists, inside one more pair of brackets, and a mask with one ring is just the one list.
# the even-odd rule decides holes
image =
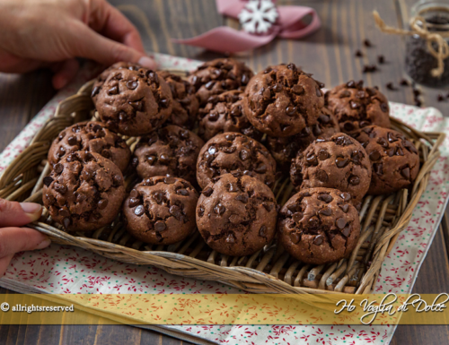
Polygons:
[[303,263],[335,263],[357,246],[360,222],[347,193],[311,188],[295,194],[279,212],[279,242]]

